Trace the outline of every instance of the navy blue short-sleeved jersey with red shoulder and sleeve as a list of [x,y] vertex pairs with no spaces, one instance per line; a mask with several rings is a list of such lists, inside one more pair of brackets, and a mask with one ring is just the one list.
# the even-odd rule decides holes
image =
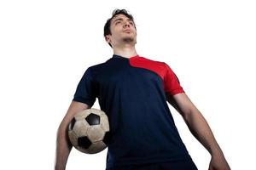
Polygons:
[[108,115],[108,168],[191,159],[166,102],[167,95],[180,93],[165,62],[113,54],[85,71],[73,100],[91,107],[97,98]]

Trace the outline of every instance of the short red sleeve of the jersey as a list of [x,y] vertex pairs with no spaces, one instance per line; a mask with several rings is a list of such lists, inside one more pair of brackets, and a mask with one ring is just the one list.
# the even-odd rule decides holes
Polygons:
[[178,81],[177,76],[175,73],[172,71],[172,69],[164,63],[166,66],[166,73],[164,76],[164,87],[165,87],[165,92],[168,95],[175,95],[175,94],[180,94],[184,93],[183,88],[180,86],[180,83]]

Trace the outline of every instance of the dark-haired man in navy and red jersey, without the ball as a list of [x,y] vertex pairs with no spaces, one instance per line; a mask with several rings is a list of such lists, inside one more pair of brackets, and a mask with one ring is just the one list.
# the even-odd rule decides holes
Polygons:
[[210,170],[230,167],[207,121],[184,93],[164,62],[139,56],[137,29],[131,14],[116,9],[104,26],[113,57],[84,73],[57,134],[56,169],[65,169],[72,145],[67,124],[99,100],[108,115],[110,141],[107,170],[197,169],[177,132],[166,100],[183,116],[191,133],[212,156]]

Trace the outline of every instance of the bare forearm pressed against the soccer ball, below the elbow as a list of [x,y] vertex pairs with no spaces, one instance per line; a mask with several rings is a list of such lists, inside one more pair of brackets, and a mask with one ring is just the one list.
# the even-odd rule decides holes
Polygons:
[[72,144],[67,139],[67,129],[65,127],[64,125],[60,126],[57,133],[55,170],[66,168],[67,158],[72,149]]

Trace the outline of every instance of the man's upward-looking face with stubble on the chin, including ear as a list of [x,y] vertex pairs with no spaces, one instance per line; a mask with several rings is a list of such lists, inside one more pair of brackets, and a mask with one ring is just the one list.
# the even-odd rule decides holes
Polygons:
[[115,47],[124,42],[137,42],[137,31],[131,19],[124,14],[117,14],[113,17],[110,24],[112,35],[106,36],[106,41]]

